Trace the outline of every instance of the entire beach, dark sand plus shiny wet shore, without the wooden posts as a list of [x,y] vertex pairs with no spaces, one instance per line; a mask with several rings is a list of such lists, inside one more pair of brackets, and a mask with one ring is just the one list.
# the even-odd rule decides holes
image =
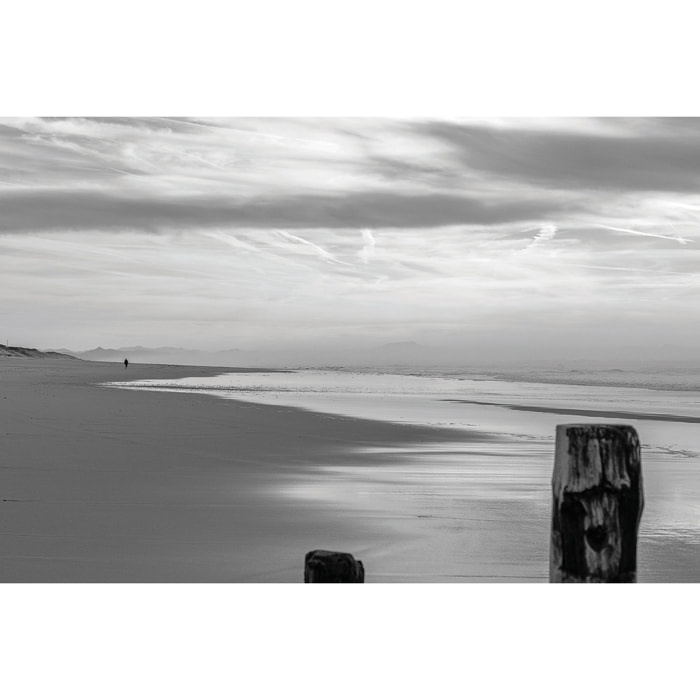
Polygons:
[[7,358],[0,377],[5,582],[301,582],[317,548],[368,583],[545,582],[553,431],[581,415],[640,430],[640,582],[700,580],[693,397]]

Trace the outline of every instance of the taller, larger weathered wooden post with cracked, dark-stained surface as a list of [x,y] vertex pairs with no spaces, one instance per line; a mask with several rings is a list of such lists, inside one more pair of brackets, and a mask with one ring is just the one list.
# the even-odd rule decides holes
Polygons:
[[635,583],[644,507],[637,431],[558,425],[550,583]]

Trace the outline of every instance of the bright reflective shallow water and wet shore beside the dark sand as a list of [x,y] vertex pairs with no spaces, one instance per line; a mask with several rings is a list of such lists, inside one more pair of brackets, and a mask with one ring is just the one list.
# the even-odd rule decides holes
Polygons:
[[[548,580],[554,434],[625,423],[642,443],[638,580],[700,581],[700,381],[688,371],[332,368],[118,382],[453,431],[356,445],[342,464],[272,486],[300,507],[383,518],[375,581]],[[367,456],[371,453],[371,460]],[[340,517],[340,516],[339,516]],[[358,544],[358,546],[360,546]]]

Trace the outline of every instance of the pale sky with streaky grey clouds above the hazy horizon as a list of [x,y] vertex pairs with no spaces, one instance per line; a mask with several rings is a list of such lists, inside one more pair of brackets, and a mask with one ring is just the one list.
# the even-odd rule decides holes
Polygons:
[[0,342],[694,358],[700,120],[0,120]]

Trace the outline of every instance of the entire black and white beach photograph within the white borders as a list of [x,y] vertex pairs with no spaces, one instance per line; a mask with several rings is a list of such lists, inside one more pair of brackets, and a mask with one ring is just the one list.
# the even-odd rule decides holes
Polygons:
[[2,580],[700,581],[700,119],[0,134]]

